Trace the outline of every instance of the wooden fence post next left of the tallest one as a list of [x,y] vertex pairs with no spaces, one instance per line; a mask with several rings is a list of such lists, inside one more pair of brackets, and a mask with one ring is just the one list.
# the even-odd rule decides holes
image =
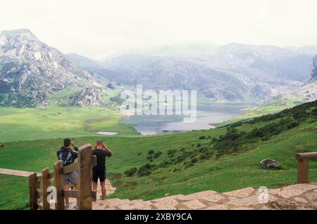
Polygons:
[[59,160],[54,163],[54,184],[56,187],[56,210],[64,210],[63,197],[63,161]]

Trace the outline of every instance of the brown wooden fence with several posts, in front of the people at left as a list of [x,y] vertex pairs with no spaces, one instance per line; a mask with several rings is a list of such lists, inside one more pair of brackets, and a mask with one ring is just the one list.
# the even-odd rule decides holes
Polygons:
[[[49,173],[49,168],[45,168],[42,170],[42,175],[32,173],[29,176],[30,208],[33,210],[51,209],[47,200],[50,192],[47,189],[54,182],[56,210],[64,209],[64,197],[76,198],[80,210],[91,210],[92,199],[97,197],[97,192],[92,191],[92,166],[96,166],[96,162],[96,156],[92,156],[92,146],[85,144],[78,149],[76,163],[63,167],[63,161],[56,161],[54,172]],[[75,170],[78,172],[78,189],[64,190],[63,175]]]

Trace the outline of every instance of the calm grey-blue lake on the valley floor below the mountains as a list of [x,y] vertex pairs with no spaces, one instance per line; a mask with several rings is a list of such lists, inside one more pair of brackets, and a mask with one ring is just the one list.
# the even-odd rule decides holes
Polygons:
[[184,123],[183,116],[130,116],[123,118],[124,123],[135,124],[135,130],[141,135],[154,135],[160,132],[185,132],[188,130],[206,130],[212,124],[221,123],[243,113],[251,104],[210,104],[197,106],[197,120]]

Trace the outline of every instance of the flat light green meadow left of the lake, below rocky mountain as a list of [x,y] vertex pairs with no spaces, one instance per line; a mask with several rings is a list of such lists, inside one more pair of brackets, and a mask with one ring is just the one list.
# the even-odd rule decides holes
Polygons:
[[55,137],[96,136],[94,131],[136,135],[133,125],[120,122],[108,108],[0,108],[0,142]]

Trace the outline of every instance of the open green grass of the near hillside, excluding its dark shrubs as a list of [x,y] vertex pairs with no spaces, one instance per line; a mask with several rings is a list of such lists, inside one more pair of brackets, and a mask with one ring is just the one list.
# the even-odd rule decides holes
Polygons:
[[[1,114],[4,114],[4,111]],[[21,116],[19,113],[15,114]],[[263,127],[273,121],[245,123],[237,129],[249,132],[254,127]],[[242,187],[280,187],[294,184],[297,181],[297,161],[294,156],[298,152],[317,151],[316,126],[316,120],[304,120],[299,126],[274,135],[266,141],[247,144],[242,151],[218,159],[212,156],[189,168],[185,168],[185,163],[156,168],[150,175],[142,177],[127,177],[124,173],[130,168],[140,168],[147,163],[159,165],[170,158],[170,149],[176,151],[174,158],[177,158],[183,151],[209,147],[211,139],[223,135],[227,131],[226,127],[169,135],[86,136],[75,137],[74,140],[77,145],[82,145],[87,142],[94,144],[101,138],[113,150],[113,157],[107,160],[107,177],[117,190],[111,198],[156,199],[166,194],[189,194],[207,189],[227,192]],[[69,132],[61,134],[65,133],[69,136]],[[49,136],[49,133],[46,134],[43,137]],[[201,136],[206,138],[201,139]],[[6,142],[6,146],[0,148],[0,167],[37,172],[46,166],[52,169],[52,164],[56,161],[56,150],[61,147],[62,140],[59,138]],[[161,155],[149,161],[147,157],[150,149],[154,152],[161,151]],[[261,169],[259,162],[263,158],[280,161],[282,169]],[[310,168],[311,180],[317,181],[317,163],[311,162]],[[0,189],[0,209],[27,208],[26,178],[0,175]]]

